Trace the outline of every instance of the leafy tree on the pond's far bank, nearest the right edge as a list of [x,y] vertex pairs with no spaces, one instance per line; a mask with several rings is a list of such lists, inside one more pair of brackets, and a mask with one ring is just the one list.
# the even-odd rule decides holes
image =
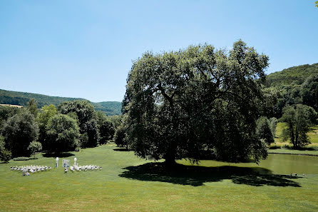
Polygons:
[[309,106],[297,104],[283,108],[283,115],[280,121],[286,122],[286,127],[282,131],[282,140],[290,139],[294,148],[301,148],[310,143],[307,133],[311,130],[313,123],[310,116],[317,118],[317,113]]

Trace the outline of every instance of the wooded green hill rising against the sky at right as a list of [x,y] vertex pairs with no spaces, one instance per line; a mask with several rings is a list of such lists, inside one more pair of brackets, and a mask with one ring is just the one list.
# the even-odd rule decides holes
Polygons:
[[318,74],[318,64],[293,66],[267,75],[266,84],[267,86],[300,85],[312,74]]

